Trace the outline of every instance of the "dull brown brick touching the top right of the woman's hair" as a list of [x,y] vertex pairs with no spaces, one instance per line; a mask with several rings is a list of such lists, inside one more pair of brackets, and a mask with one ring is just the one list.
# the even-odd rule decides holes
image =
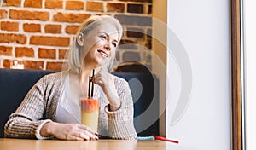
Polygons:
[[152,17],[117,14],[115,17],[123,25],[152,26]]

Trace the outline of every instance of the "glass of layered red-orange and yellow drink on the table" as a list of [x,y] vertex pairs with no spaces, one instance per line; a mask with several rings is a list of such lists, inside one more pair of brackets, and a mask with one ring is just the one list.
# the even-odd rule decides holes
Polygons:
[[81,123],[97,131],[98,118],[99,100],[91,98],[81,99]]

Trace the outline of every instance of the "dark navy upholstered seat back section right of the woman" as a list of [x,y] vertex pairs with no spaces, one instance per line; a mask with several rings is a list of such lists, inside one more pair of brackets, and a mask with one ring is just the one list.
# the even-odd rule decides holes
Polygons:
[[159,135],[159,80],[151,73],[114,72],[129,83],[138,136]]

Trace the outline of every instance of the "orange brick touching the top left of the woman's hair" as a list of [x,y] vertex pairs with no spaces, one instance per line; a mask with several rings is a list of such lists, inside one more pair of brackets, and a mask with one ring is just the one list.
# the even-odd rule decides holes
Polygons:
[[58,22],[83,22],[90,17],[90,14],[63,14],[57,13],[53,16],[54,21]]

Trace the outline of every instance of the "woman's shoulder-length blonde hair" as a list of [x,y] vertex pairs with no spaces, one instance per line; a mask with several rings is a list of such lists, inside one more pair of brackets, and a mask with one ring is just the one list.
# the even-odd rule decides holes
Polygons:
[[[84,20],[83,24],[80,26],[79,31],[76,34],[76,37],[73,40],[73,44],[71,45],[68,53],[68,62],[67,62],[68,68],[72,72],[79,73],[82,66],[82,61],[84,61],[84,60],[81,60],[80,46],[77,43],[79,32],[82,32],[84,33],[84,35],[86,35],[88,32],[93,30],[93,28],[95,28],[96,26],[102,25],[102,22],[104,21],[107,21],[108,23],[113,24],[113,26],[116,27],[117,32],[119,33],[118,42],[121,40],[123,27],[119,23],[119,20],[115,19],[113,16],[94,15],[88,18],[87,20]],[[115,53],[113,53],[110,61],[106,63],[104,66],[102,66],[104,69],[108,70],[108,72],[110,72],[110,70],[112,69],[114,58],[115,58]]]

